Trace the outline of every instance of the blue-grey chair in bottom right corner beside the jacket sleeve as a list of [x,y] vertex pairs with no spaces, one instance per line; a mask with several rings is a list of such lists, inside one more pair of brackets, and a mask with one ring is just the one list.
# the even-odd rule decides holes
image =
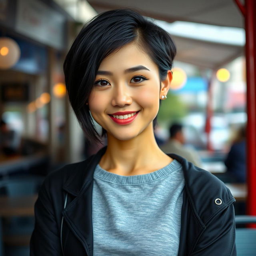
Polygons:
[[[236,215],[237,224],[256,223],[256,216]],[[256,256],[256,228],[236,228],[237,256]]]

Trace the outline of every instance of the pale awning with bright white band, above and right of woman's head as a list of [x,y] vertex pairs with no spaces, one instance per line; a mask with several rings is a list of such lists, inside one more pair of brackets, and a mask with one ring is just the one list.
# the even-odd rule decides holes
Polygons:
[[[174,39],[177,47],[175,59],[178,61],[216,69],[243,54],[245,43],[243,17],[232,0],[119,0],[118,2],[89,0],[88,2],[97,12],[134,8],[143,15],[157,20],[186,21],[169,23],[169,25],[166,22],[158,22]],[[208,33],[204,33],[206,25],[203,24],[222,27],[208,26]],[[186,26],[186,31],[182,26]]]

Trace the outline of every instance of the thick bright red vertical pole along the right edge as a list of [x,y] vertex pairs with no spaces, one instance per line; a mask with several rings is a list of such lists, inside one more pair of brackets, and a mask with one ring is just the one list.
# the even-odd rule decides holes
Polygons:
[[256,0],[236,4],[244,14],[247,80],[247,213],[256,215]]

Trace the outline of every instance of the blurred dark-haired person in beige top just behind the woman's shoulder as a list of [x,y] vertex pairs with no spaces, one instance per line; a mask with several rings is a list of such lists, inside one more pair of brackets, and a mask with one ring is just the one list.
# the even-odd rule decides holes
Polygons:
[[177,154],[186,158],[186,160],[192,162],[195,166],[200,167],[201,160],[196,151],[193,148],[184,146],[185,136],[182,128],[182,124],[172,124],[170,126],[170,139],[164,145],[160,146],[160,148],[166,154]]

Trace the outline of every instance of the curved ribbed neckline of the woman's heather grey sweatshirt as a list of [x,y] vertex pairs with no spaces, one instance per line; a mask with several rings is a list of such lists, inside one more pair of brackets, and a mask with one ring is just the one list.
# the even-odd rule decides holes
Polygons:
[[177,160],[173,160],[167,166],[156,170],[154,172],[150,172],[147,174],[140,174],[134,176],[122,176],[118,174],[114,174],[112,172],[108,172],[100,167],[97,164],[94,172],[94,177],[104,180],[106,182],[111,182],[120,185],[138,185],[138,184],[146,184],[152,181],[156,181],[164,176],[167,176],[174,172],[177,169],[181,168],[181,164]]

